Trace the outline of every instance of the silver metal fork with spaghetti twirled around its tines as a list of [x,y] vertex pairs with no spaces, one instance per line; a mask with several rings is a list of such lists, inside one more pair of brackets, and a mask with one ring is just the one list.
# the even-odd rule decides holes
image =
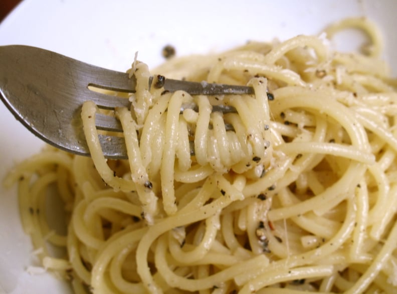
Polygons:
[[[149,81],[149,88],[154,78]],[[164,91],[183,90],[191,95],[253,94],[253,88],[223,84],[187,82],[156,77]],[[94,92],[89,87],[134,93],[136,79],[127,73],[112,71],[48,50],[10,45],[0,46],[0,98],[28,130],[45,142],[65,151],[89,156],[84,137],[81,107],[87,100],[99,108],[114,110],[131,102]],[[158,86],[158,85],[157,85]],[[233,112],[231,107],[213,107],[213,111]],[[98,113],[96,127],[112,132],[122,131],[114,116]],[[124,138],[99,135],[104,156],[125,159]],[[194,151],[192,151],[194,152]]]

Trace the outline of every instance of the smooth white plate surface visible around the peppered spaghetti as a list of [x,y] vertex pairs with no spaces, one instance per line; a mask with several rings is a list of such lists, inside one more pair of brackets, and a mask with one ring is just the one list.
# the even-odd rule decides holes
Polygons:
[[[247,40],[281,40],[316,34],[326,24],[368,16],[384,33],[386,59],[397,71],[397,27],[393,0],[25,0],[0,24],[0,45],[25,44],[56,51],[105,68],[125,71],[134,54],[150,67],[171,44],[177,55],[221,51]],[[0,4],[1,5],[1,4]],[[1,56],[0,56],[1,58]],[[0,103],[0,178],[43,143]],[[38,265],[18,213],[16,187],[0,187],[0,293],[69,293]]]

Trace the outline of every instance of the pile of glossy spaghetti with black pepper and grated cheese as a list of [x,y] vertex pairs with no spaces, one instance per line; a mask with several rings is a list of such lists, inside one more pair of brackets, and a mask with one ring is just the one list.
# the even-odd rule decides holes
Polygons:
[[[76,293],[395,293],[396,84],[367,20],[326,36],[346,27],[368,35],[363,54],[333,51],[321,35],[171,58],[152,72],[134,62],[131,110],[108,113],[128,160],[104,158],[102,110],[87,101],[92,158],[48,147],[6,179],[18,181],[43,267]],[[255,94],[167,93],[148,89],[153,74]],[[66,234],[46,219],[54,194]]]

